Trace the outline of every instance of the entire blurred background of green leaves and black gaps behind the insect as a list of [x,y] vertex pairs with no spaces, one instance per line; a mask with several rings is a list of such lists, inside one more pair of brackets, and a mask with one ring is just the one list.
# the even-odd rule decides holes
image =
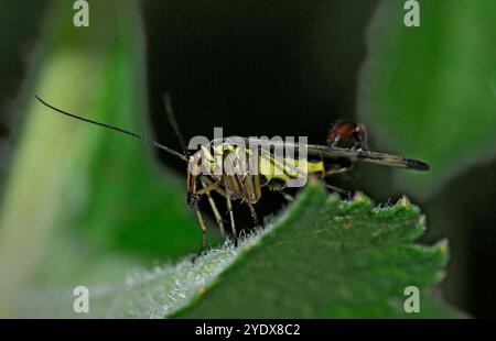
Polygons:
[[[408,194],[427,216],[422,242],[450,241],[446,300],[496,316],[494,1],[422,1],[412,29],[397,0],[88,2],[90,25],[75,29],[73,1],[0,1],[1,315],[39,309],[32,288],[196,250],[184,163],[33,100],[180,150],[169,91],[186,140],[223,127],[322,143],[348,118],[367,123],[373,148],[429,162],[422,175],[362,165],[334,184],[376,202]],[[257,209],[282,205],[267,193]]]

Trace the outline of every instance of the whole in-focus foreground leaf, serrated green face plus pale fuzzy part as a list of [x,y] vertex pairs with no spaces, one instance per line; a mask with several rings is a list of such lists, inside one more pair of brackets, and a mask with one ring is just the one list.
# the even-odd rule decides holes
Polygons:
[[[363,196],[327,197],[311,183],[284,215],[238,248],[136,272],[107,290],[90,288],[103,294],[91,300],[89,317],[460,317],[434,293],[446,243],[413,244],[423,229],[406,198],[374,207]],[[420,290],[419,314],[403,310],[409,286]]]

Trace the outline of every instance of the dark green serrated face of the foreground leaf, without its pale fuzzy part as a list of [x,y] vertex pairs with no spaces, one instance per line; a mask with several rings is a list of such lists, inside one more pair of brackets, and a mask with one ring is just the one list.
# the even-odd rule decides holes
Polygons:
[[423,218],[407,199],[374,208],[365,197],[341,201],[311,184],[179,316],[406,318],[407,286],[417,286],[423,302],[413,317],[453,316],[431,293],[446,262],[446,245],[412,244],[423,229]]

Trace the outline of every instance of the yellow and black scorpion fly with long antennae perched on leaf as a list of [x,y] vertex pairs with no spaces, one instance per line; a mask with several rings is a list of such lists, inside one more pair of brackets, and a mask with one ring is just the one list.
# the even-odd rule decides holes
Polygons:
[[[219,232],[223,238],[226,237],[224,220],[212,196],[213,191],[216,191],[226,200],[231,234],[235,238],[235,241],[237,241],[238,234],[235,226],[233,201],[239,200],[247,205],[250,209],[255,224],[258,224],[259,220],[254,206],[261,197],[262,187],[280,191],[289,199],[291,197],[285,195],[283,189],[290,180],[306,175],[327,178],[349,172],[357,162],[376,163],[390,167],[414,170],[429,169],[428,164],[417,160],[368,151],[365,127],[352,121],[337,121],[331,128],[325,145],[288,142],[280,142],[278,145],[277,142],[270,142],[273,147],[290,147],[295,150],[296,153],[304,148],[304,158],[295,156],[278,156],[270,147],[265,147],[267,141],[262,140],[255,140],[256,146],[254,147],[251,146],[254,142],[251,138],[241,139],[241,142],[249,143],[249,147],[241,147],[240,143],[233,143],[228,139],[222,139],[220,141],[214,139],[209,141],[207,145],[200,145],[194,153],[187,153],[184,139],[180,133],[179,125],[172,111],[170,98],[165,95],[164,102],[168,120],[183,147],[183,153],[179,153],[143,135],[61,110],[37,96],[36,99],[53,111],[141,140],[186,162],[188,165],[186,174],[186,201],[195,211],[202,230],[201,251],[206,246],[206,226],[198,209],[198,201],[201,198],[206,197]],[[255,158],[255,167],[258,172],[248,172],[252,170],[252,165],[250,169],[247,169],[248,163],[246,163],[246,156],[251,157],[252,160]],[[219,164],[224,165],[224,167],[220,172],[215,172]],[[205,172],[202,172],[205,170],[205,168],[209,170],[206,172],[206,174]],[[326,185],[326,187],[339,191],[339,188],[331,185]]]

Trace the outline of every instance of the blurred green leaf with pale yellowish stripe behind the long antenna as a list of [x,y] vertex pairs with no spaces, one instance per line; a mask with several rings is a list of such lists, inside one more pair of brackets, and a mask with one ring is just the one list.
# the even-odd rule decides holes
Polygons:
[[20,99],[0,210],[0,314],[7,316],[32,284],[121,278],[130,266],[177,257],[200,243],[184,180],[159,167],[155,151],[34,99],[150,135],[138,1],[91,2],[89,28],[73,25],[65,1],[54,1],[48,14]]

